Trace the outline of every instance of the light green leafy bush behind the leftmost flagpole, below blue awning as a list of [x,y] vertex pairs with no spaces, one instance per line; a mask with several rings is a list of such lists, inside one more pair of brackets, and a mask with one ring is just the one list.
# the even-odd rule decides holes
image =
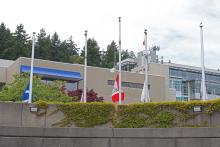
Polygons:
[[[0,91],[0,101],[22,101],[22,94],[29,83],[29,74],[16,75],[12,83],[6,84]],[[54,81],[53,84],[45,84],[40,77],[33,78],[33,101],[60,101],[72,100],[61,91],[63,82]]]

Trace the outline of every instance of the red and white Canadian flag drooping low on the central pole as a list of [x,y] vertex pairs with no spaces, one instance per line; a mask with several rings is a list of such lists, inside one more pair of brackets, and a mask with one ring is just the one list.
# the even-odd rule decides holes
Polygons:
[[[121,92],[121,100],[124,101],[124,92]],[[112,102],[116,103],[119,101],[119,75],[117,74],[114,87],[112,90]]]

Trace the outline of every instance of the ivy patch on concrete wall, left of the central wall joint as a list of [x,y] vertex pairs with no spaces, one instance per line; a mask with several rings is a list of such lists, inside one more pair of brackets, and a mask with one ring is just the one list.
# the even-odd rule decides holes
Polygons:
[[65,118],[54,124],[58,126],[94,127],[111,122],[114,106],[110,103],[66,103],[58,105],[58,110],[65,114]]

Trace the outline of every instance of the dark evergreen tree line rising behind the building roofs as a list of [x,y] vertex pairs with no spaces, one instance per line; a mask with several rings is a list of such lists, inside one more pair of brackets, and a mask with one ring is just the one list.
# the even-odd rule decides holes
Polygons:
[[[31,57],[32,39],[24,29],[23,24],[17,25],[11,31],[4,23],[0,25],[0,59],[16,60],[19,57]],[[87,41],[87,64],[89,66],[112,68],[118,62],[118,46],[111,41],[106,49],[100,49],[94,38]],[[135,58],[133,51],[122,50],[122,60]],[[61,40],[57,32],[47,34],[45,29],[37,33],[35,44],[35,58],[68,63],[84,63],[84,48],[80,49],[70,36]]]

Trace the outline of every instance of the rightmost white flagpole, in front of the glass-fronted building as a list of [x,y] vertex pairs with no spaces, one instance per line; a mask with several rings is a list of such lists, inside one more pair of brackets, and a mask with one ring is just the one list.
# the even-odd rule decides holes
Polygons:
[[207,100],[206,85],[205,85],[205,63],[204,63],[204,44],[203,44],[203,25],[200,23],[200,37],[201,37],[201,66],[202,66],[202,82],[201,82],[201,94],[202,100]]

